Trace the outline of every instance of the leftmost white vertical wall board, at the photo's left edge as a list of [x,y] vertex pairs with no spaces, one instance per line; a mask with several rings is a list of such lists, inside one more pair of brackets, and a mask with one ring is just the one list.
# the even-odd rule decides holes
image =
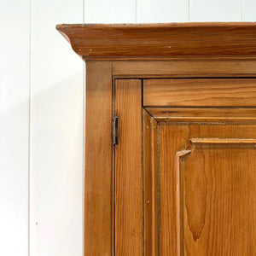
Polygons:
[[29,0],[0,1],[0,255],[28,253]]

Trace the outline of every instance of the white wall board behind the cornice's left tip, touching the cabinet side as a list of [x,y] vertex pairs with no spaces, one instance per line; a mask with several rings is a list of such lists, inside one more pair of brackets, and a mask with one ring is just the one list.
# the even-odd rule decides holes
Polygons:
[[32,0],[30,253],[82,255],[83,61],[55,30],[83,0]]

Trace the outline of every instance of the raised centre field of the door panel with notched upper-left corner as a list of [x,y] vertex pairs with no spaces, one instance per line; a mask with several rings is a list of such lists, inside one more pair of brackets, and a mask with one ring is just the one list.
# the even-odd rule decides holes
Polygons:
[[256,140],[190,143],[176,155],[177,255],[253,255]]

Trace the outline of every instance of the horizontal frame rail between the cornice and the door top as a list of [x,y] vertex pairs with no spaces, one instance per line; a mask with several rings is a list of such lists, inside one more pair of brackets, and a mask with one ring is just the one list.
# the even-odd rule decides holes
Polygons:
[[190,58],[168,61],[113,61],[115,77],[172,78],[172,77],[253,77],[256,61],[249,58]]

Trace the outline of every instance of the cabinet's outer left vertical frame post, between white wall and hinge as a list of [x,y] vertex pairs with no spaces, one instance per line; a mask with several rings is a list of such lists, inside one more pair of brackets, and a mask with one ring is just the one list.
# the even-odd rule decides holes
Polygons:
[[112,63],[86,63],[84,255],[111,255]]

